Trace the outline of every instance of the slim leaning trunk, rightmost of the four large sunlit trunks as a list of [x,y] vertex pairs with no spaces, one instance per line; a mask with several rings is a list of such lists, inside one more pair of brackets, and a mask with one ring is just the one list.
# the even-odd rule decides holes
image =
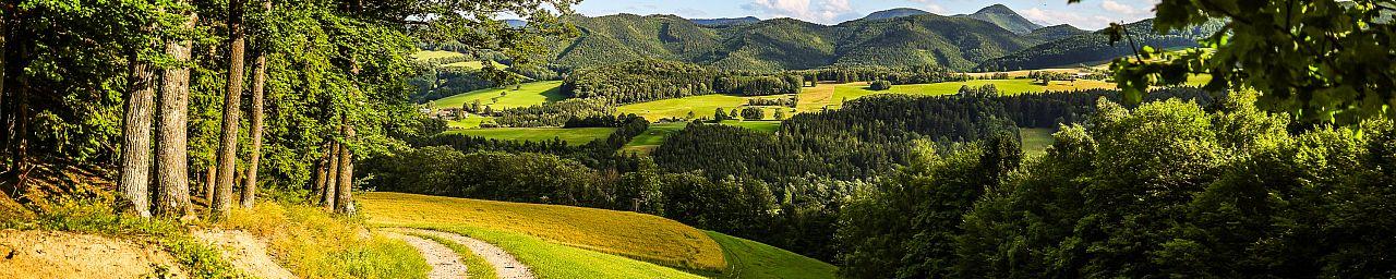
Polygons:
[[[271,11],[271,0],[262,1],[262,10]],[[247,159],[247,174],[243,180],[243,208],[251,208],[257,201],[257,165],[261,163],[262,103],[267,89],[267,39],[262,39],[253,59],[253,107],[251,107],[251,158]]]

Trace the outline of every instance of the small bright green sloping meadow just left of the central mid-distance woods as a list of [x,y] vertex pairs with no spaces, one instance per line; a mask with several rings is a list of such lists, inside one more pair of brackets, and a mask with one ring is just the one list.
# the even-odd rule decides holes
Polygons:
[[480,100],[482,109],[483,106],[490,106],[497,110],[542,105],[567,99],[563,95],[561,85],[563,81],[539,81],[522,84],[517,91],[514,86],[470,91],[431,100],[431,107],[458,109],[461,105],[473,103],[475,100]]

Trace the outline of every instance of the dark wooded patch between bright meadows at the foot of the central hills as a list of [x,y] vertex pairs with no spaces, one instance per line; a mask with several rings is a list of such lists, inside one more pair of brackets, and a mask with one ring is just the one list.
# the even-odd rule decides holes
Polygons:
[[803,84],[796,74],[719,73],[680,61],[635,60],[579,70],[564,80],[563,92],[578,99],[638,103],[708,93],[799,93]]

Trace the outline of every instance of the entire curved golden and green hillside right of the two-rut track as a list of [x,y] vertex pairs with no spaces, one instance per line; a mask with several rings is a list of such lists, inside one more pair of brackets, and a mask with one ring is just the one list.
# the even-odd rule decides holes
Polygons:
[[[740,264],[729,262],[734,252],[773,257],[762,261],[743,258],[741,262],[764,262],[743,265],[743,273],[811,273],[799,266],[828,265],[750,240],[718,239],[674,220],[634,212],[396,193],[367,193],[359,201],[373,225],[437,229],[490,241],[510,250],[543,278],[549,272],[586,278],[671,278],[688,273],[683,271],[730,275],[734,271],[732,265]],[[757,248],[729,248],[732,243],[741,241]],[[814,278],[832,278],[832,269],[815,272],[826,272],[826,276]]]

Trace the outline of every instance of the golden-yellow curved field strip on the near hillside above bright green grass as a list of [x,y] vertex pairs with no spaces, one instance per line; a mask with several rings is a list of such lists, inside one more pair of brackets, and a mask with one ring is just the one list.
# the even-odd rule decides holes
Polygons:
[[[614,262],[597,258],[596,254],[578,255],[578,251],[561,248],[561,246],[568,246],[683,269],[718,272],[726,268],[722,247],[706,233],[652,215],[396,193],[366,193],[360,195],[359,201],[370,223],[427,229],[470,229],[472,233],[493,232],[493,237],[480,237],[503,246],[511,252],[547,252],[532,251],[533,248],[546,248],[571,254],[568,257]],[[536,237],[536,241],[518,236]],[[515,244],[532,248],[511,248],[501,243],[503,239],[521,241],[522,244]],[[539,247],[550,243],[560,246]],[[519,257],[529,261],[525,255]],[[547,257],[563,255],[542,254],[540,257],[532,261],[550,261]],[[533,265],[542,266],[543,262]],[[563,266],[565,268],[565,265]]]

